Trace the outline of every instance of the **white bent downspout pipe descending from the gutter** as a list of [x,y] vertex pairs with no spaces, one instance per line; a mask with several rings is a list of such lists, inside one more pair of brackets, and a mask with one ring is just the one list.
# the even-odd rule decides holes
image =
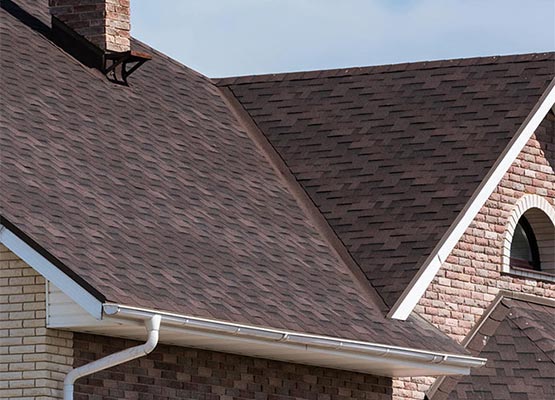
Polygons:
[[77,379],[146,356],[154,350],[160,336],[160,320],[160,315],[156,314],[145,321],[148,339],[144,344],[110,354],[69,371],[64,379],[64,400],[73,400],[73,385]]

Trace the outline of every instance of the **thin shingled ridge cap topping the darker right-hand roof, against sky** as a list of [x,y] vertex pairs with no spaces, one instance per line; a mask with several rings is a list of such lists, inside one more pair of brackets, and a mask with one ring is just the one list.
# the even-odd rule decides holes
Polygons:
[[555,52],[539,52],[524,54],[508,54],[495,56],[480,56],[469,58],[453,58],[447,60],[415,61],[370,66],[353,66],[322,70],[293,71],[282,73],[268,73],[258,75],[241,75],[226,78],[212,78],[217,86],[252,84],[261,82],[301,81],[321,78],[339,78],[346,76],[372,75],[378,73],[392,73],[409,70],[431,70],[470,65],[491,65],[496,63],[519,63],[531,60],[545,60],[552,58],[555,62]]

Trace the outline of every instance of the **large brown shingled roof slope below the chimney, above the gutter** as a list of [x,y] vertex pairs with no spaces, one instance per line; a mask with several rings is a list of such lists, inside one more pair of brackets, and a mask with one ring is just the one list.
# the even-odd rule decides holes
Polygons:
[[114,85],[48,39],[46,2],[18,4],[0,10],[0,213],[101,300],[463,351],[361,294],[207,78],[135,42],[154,59]]

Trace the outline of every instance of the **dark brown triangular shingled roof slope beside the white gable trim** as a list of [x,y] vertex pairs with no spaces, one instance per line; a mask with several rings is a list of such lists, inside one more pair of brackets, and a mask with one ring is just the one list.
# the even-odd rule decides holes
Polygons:
[[555,75],[555,53],[228,78],[389,306]]

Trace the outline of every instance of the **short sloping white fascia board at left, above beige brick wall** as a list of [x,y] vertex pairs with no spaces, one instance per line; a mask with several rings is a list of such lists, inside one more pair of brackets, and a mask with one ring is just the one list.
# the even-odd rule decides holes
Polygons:
[[0,243],[46,280],[61,288],[94,318],[98,320],[102,318],[102,302],[3,225],[0,225]]

